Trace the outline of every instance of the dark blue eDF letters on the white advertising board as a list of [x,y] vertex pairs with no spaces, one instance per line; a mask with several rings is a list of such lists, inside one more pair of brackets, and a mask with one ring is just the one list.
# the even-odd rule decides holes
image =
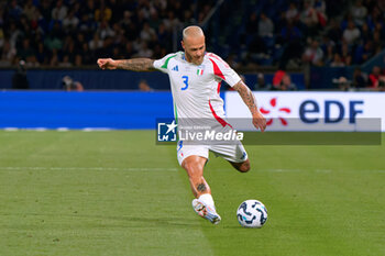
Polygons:
[[[338,123],[341,122],[343,116],[345,116],[345,111],[348,111],[349,123],[355,123],[355,116],[363,113],[363,110],[360,109],[360,105],[363,105],[362,100],[351,100],[349,101],[349,107],[345,109],[340,101],[337,100],[326,100],[324,104],[324,123]],[[338,115],[331,118],[331,108],[337,108]],[[310,118],[309,113],[319,113],[320,105],[315,100],[306,100],[299,105],[299,118],[304,123],[317,123],[319,122],[318,118]]]

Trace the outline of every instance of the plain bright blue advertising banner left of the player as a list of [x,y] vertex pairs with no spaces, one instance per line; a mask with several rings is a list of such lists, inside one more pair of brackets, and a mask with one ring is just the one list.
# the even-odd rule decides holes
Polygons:
[[0,92],[0,129],[155,129],[170,92]]

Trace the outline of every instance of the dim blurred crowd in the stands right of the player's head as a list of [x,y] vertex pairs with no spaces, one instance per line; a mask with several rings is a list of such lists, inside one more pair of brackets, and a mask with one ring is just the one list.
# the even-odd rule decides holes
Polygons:
[[246,7],[251,11],[237,37],[241,52],[230,49],[235,65],[344,67],[363,64],[384,48],[384,1],[266,2]]

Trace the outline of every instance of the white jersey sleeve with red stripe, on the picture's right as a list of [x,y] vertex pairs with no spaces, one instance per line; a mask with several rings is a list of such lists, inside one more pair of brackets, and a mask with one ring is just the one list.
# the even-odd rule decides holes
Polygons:
[[208,54],[208,56],[212,63],[216,77],[219,77],[231,87],[241,80],[241,77],[221,57],[212,53]]

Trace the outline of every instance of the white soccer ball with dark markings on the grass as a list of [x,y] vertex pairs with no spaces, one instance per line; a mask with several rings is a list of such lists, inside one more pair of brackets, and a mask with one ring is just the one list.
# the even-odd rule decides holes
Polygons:
[[246,200],[238,208],[237,219],[244,227],[262,227],[267,221],[267,209],[258,200]]

